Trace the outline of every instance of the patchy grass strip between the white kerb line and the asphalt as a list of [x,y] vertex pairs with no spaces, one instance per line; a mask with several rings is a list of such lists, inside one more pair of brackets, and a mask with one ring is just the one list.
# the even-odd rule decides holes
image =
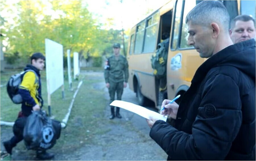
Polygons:
[[[94,90],[93,83],[95,80],[87,80],[85,77],[81,89],[77,93],[68,125],[63,129],[62,138],[59,139],[58,145],[62,146],[62,150],[75,151],[85,143],[92,143],[95,134],[106,132],[99,128],[99,122],[104,122],[104,120],[106,122],[104,91]],[[71,138],[73,138],[72,141]],[[63,147],[63,145],[65,146]]]

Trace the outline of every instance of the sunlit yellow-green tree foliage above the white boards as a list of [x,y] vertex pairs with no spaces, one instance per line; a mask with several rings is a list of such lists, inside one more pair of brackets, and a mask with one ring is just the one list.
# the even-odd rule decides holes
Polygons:
[[44,53],[46,38],[63,45],[64,54],[71,49],[71,55],[79,52],[84,58],[87,51],[92,57],[104,52],[111,55],[113,43],[123,42],[121,31],[102,29],[103,24],[93,18],[84,1],[34,0],[7,5],[3,0],[0,9],[8,13],[1,15],[1,33],[6,34],[3,40],[8,42],[6,52],[18,51],[24,60],[34,52]]

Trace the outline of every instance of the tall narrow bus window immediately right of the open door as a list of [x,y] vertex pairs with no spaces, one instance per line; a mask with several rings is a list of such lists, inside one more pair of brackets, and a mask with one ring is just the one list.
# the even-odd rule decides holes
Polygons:
[[182,1],[179,0],[176,2],[176,8],[175,8],[175,19],[174,19],[175,22],[173,26],[172,45],[171,45],[172,49],[177,49],[177,45],[178,45],[181,10],[182,10]]

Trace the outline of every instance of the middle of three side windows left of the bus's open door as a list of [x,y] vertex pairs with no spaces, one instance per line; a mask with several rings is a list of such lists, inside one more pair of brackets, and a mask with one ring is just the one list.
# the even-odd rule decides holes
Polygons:
[[145,21],[141,22],[137,26],[136,38],[135,38],[135,54],[141,54],[143,47],[143,38],[144,38],[144,30],[145,30]]

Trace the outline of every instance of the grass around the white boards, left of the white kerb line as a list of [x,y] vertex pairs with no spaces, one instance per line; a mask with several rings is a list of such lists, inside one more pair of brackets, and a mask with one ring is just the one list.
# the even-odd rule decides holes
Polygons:
[[[1,73],[0,82],[2,84],[6,84],[9,80],[10,76],[18,73],[20,71],[8,71],[5,73]],[[69,108],[69,104],[73,99],[73,95],[77,89],[77,85],[79,80],[73,80],[72,86],[73,91],[69,90],[68,80],[64,79],[64,94],[65,97],[62,99],[62,89],[61,87],[57,89],[53,94],[51,94],[51,113],[55,116],[55,119],[62,120]],[[47,97],[47,86],[46,86],[46,71],[41,72],[41,81],[42,81],[42,97],[44,99],[44,107],[43,109],[48,111],[48,97]],[[6,86],[1,87],[0,89],[0,106],[1,106],[1,121],[13,122],[17,118],[18,112],[21,110],[21,104],[14,104],[7,94]]]

